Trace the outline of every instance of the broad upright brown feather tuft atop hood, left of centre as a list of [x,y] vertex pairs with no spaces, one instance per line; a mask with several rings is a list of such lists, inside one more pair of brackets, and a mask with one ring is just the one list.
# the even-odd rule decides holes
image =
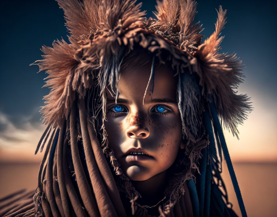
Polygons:
[[75,39],[85,40],[99,30],[110,32],[118,25],[128,27],[145,20],[145,12],[139,10],[141,4],[135,5],[134,0],[56,1],[64,10],[66,26]]

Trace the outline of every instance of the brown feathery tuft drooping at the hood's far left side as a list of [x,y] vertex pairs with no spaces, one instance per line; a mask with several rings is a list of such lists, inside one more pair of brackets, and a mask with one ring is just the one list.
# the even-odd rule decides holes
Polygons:
[[72,89],[74,71],[79,61],[74,58],[75,47],[65,40],[54,41],[52,47],[42,47],[45,53],[42,60],[37,60],[31,65],[38,65],[40,71],[49,74],[45,78],[44,87],[50,87],[50,93],[44,97],[45,106],[40,112],[44,113],[44,124],[53,126],[62,125],[62,117],[70,110],[75,93]]

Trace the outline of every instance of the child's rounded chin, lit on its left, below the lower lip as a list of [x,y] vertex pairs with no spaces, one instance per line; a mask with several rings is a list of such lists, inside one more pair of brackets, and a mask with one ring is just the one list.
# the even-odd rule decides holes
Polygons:
[[132,181],[145,181],[152,177],[149,170],[142,166],[130,166],[125,174]]

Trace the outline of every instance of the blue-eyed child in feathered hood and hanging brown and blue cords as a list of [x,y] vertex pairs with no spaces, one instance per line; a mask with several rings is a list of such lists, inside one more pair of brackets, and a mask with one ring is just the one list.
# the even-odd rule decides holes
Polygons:
[[251,110],[234,91],[241,62],[218,52],[226,10],[201,44],[191,0],[158,2],[158,20],[132,0],[58,3],[70,44],[43,47],[35,63],[52,90],[34,202],[18,192],[1,214],[237,216],[220,176],[223,152],[246,216],[218,119],[237,135]]

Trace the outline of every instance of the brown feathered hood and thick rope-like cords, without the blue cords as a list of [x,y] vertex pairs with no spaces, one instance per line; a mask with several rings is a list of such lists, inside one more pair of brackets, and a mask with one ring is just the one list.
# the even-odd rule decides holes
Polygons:
[[[235,91],[243,78],[241,61],[219,53],[226,10],[219,7],[215,32],[201,43],[194,0],[157,2],[157,19],[148,20],[134,0],[57,2],[70,43],[44,46],[43,59],[33,63],[49,74],[45,86],[51,88],[41,109],[48,127],[35,151],[46,144],[38,186],[35,193],[1,199],[0,215],[129,217],[151,216],[148,210],[155,209],[160,217],[193,216],[187,181],[196,181],[201,150],[209,145],[202,112],[213,100],[224,126],[237,135],[251,110],[249,98]],[[120,65],[134,49],[155,55],[179,76],[177,101],[188,141],[164,199],[151,208],[136,202],[140,194],[122,173],[103,125],[104,89],[110,85],[117,99]]]

